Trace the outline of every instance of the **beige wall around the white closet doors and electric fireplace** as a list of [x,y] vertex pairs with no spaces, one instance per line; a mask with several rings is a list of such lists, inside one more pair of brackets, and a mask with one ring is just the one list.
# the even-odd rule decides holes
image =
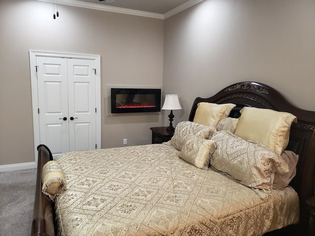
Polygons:
[[162,86],[163,20],[0,0],[0,165],[34,161],[29,50],[101,56],[101,147],[151,143],[161,115],[106,116],[107,84]]

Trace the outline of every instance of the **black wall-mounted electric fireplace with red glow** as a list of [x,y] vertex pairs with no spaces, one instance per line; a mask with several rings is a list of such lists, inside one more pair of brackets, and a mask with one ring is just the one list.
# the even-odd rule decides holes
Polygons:
[[112,113],[160,112],[161,89],[111,89]]

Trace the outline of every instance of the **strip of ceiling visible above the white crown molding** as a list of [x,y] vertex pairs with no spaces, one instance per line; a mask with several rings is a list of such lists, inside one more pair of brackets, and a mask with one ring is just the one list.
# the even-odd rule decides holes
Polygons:
[[[191,0],[114,0],[107,2],[106,0],[80,0],[107,6],[123,7],[132,10],[147,11],[153,13],[164,14],[177,6],[180,6]],[[112,1],[112,0],[108,0]]]

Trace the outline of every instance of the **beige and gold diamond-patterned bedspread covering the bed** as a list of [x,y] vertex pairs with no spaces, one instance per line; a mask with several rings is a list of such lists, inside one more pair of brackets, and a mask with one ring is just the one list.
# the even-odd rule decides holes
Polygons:
[[167,144],[58,157],[60,236],[256,236],[298,221],[291,187],[261,200],[252,189],[183,161]]

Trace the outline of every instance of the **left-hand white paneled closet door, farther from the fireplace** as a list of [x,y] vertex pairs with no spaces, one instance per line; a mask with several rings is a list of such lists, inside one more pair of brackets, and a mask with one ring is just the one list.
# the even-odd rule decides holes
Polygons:
[[54,158],[69,151],[67,59],[37,57],[40,143]]

